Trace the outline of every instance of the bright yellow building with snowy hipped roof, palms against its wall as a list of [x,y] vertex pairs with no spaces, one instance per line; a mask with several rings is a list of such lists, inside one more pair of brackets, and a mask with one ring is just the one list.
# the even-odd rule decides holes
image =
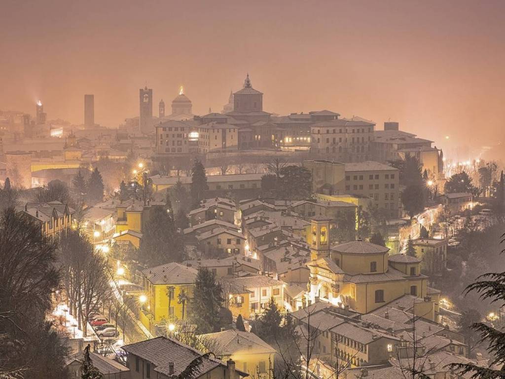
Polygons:
[[[145,302],[141,304],[144,315],[154,323],[163,318],[184,319],[189,299],[193,296],[197,271],[179,263],[168,263],[142,270]],[[141,321],[145,321],[142,317]],[[145,325],[149,327],[149,325]]]

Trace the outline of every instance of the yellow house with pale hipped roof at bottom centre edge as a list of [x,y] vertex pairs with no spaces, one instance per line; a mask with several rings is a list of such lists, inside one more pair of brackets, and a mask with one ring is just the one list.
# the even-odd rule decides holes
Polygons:
[[216,357],[233,360],[235,367],[251,377],[271,378],[275,349],[254,333],[236,329],[199,336]]

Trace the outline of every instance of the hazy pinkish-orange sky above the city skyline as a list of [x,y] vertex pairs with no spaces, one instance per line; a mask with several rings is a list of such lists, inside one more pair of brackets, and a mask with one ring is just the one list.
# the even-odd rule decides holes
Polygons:
[[[220,111],[249,72],[266,111],[397,120],[448,144],[504,136],[504,1],[23,1],[0,4],[0,109],[116,127],[138,88]],[[449,135],[450,139],[443,137]]]

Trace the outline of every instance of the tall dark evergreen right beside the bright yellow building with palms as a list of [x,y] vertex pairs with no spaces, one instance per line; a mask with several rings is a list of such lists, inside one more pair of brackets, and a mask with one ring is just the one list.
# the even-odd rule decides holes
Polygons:
[[205,267],[198,269],[194,284],[191,312],[198,333],[213,333],[220,329],[220,309],[224,302],[221,285]]

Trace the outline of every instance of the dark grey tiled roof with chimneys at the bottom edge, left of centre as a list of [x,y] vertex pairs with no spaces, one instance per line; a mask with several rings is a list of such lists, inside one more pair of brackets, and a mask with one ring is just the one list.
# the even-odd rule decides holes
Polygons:
[[[155,371],[167,376],[180,375],[192,361],[203,355],[196,349],[165,337],[126,345],[123,350],[153,363]],[[170,363],[174,364],[173,373],[169,371]],[[199,373],[203,375],[221,365],[224,363],[218,359],[203,358],[198,366]]]

